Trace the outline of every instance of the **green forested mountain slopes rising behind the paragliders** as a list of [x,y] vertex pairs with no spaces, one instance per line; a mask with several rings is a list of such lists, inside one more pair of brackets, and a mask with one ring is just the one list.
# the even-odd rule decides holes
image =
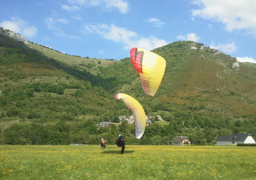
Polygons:
[[[256,136],[256,65],[233,67],[235,58],[191,41],[153,52],[165,58],[166,70],[150,97],[129,58],[71,56],[0,35],[0,143],[97,144],[101,137],[114,143],[120,132],[133,144],[167,144],[176,135],[194,144],[233,132]],[[102,120],[131,115],[116,93],[134,97],[147,115],[169,124],[151,124],[141,140],[127,122],[97,129]]]

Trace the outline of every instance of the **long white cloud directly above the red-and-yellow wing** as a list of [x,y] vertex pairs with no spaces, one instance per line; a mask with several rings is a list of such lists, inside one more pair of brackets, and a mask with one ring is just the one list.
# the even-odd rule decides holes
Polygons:
[[101,35],[104,39],[122,43],[124,44],[125,49],[141,47],[147,50],[153,50],[167,44],[166,41],[154,36],[150,38],[139,38],[137,33],[115,25],[85,25],[82,32],[86,35],[89,33],[96,33]]

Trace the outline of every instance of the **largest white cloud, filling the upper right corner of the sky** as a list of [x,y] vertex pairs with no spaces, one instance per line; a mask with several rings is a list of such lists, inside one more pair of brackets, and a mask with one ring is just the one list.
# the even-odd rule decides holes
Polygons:
[[193,16],[224,23],[225,29],[246,29],[256,34],[256,0],[194,0]]

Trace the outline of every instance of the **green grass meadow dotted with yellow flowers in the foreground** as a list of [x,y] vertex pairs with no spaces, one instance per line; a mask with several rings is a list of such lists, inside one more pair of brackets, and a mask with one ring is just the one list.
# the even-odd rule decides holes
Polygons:
[[256,180],[255,147],[0,146],[0,180]]

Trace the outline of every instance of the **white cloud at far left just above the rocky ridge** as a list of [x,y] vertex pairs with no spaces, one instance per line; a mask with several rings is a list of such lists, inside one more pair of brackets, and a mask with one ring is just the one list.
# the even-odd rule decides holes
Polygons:
[[25,37],[34,37],[37,33],[35,26],[30,26],[26,21],[17,17],[12,17],[11,21],[3,21],[0,26],[4,29],[9,29],[13,32],[19,33]]

